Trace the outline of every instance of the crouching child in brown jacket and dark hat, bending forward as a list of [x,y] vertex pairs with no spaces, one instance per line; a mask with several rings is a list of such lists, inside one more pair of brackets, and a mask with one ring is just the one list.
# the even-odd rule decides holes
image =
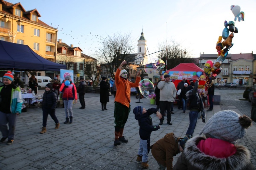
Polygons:
[[159,170],[172,170],[173,156],[183,152],[185,143],[192,138],[190,135],[185,135],[184,138],[177,137],[174,133],[168,133],[162,139],[159,139],[151,148],[151,153],[156,159]]

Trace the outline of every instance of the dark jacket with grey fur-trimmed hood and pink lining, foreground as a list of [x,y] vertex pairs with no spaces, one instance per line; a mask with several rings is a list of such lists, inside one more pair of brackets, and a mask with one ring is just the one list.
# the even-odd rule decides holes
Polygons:
[[253,170],[250,151],[221,139],[196,136],[186,142],[174,170]]

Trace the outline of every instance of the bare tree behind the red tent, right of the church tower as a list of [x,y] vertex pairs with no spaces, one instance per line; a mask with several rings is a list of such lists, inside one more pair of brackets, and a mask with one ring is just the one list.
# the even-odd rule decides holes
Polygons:
[[189,52],[186,49],[182,49],[181,44],[174,40],[171,40],[170,44],[161,43],[158,46],[159,50],[165,49],[165,51],[158,53],[158,58],[164,62],[167,60],[167,69],[176,67],[180,63],[196,62],[196,58],[190,57]]

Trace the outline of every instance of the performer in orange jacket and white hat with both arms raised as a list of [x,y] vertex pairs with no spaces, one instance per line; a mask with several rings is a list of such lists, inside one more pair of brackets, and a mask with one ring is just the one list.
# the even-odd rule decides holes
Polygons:
[[140,71],[137,73],[136,82],[131,83],[127,79],[127,71],[121,70],[126,61],[123,61],[115,74],[115,83],[116,83],[116,97],[115,97],[115,141],[114,146],[120,145],[121,142],[128,142],[127,139],[123,136],[124,126],[128,119],[130,112],[130,94],[131,87],[138,87],[140,82]]

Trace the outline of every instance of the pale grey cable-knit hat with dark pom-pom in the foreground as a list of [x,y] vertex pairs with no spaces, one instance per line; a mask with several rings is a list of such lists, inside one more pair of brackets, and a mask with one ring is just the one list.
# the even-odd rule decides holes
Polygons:
[[252,120],[230,110],[215,113],[205,124],[201,134],[210,134],[212,137],[236,143],[246,134],[245,129],[252,125]]

